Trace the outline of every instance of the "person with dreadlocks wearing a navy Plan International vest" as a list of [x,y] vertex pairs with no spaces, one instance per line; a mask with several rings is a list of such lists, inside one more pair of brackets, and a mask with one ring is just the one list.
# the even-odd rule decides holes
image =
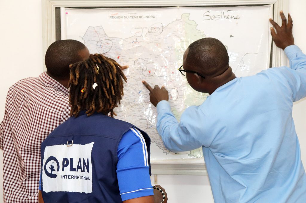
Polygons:
[[39,202],[167,202],[151,185],[150,138],[114,119],[124,81],[121,66],[101,54],[70,66],[71,117],[41,145]]

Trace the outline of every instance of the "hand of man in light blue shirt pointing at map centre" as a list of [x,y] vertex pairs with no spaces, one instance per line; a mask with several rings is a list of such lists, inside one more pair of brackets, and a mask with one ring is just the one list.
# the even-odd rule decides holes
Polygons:
[[162,88],[159,88],[158,85],[155,85],[153,89],[149,84],[147,84],[146,81],[143,80],[142,83],[150,91],[150,102],[155,107],[158,104],[158,102],[162,100],[166,100],[166,101],[169,100],[169,93],[164,86],[162,86]]

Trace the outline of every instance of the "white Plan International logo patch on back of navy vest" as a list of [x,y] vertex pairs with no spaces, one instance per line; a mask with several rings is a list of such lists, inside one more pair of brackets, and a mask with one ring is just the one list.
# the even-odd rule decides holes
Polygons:
[[91,193],[93,144],[46,147],[43,158],[43,191]]

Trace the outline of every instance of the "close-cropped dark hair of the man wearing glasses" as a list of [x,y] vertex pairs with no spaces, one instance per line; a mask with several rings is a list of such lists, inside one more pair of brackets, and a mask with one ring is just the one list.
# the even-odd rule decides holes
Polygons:
[[207,37],[189,45],[186,60],[197,67],[204,76],[217,76],[224,72],[230,61],[226,47],[221,41]]

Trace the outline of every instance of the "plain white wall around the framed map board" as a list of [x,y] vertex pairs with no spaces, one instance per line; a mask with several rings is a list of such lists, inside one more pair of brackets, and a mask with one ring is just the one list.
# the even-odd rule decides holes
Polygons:
[[[306,53],[305,0],[289,0],[295,44]],[[41,0],[0,1],[0,119],[4,115],[6,92],[24,77],[36,77],[43,71]],[[300,140],[301,156],[306,166],[306,100],[293,107],[293,118]],[[2,159],[2,154],[0,154]],[[2,170],[0,160],[0,170]],[[2,176],[0,176],[0,183]],[[158,175],[169,196],[169,203],[213,202],[207,176]],[[2,191],[2,184],[0,184]],[[3,194],[0,192],[0,203]]]

